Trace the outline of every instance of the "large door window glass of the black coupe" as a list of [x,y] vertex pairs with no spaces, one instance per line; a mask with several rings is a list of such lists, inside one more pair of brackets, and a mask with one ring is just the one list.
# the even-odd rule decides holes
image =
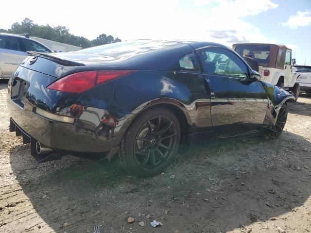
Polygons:
[[199,51],[203,71],[208,74],[225,75],[239,79],[247,78],[247,67],[241,59],[229,50],[210,48]]

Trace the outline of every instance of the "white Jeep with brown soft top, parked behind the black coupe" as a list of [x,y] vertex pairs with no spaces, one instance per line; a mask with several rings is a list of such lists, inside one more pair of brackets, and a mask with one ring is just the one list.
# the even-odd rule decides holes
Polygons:
[[261,80],[290,91],[296,100],[299,96],[299,83],[295,83],[299,73],[293,71],[292,50],[285,45],[239,43],[232,49],[261,75]]

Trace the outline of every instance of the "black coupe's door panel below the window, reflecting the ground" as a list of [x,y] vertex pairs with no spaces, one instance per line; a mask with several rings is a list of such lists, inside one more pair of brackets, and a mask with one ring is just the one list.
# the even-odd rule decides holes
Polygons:
[[260,127],[268,104],[261,82],[218,75],[204,77],[215,97],[211,99],[211,116],[218,136],[232,136]]

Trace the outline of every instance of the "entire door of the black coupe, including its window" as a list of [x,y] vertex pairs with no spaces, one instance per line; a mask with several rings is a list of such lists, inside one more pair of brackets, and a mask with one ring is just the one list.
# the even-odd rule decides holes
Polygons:
[[219,47],[197,50],[197,54],[211,93],[215,133],[228,137],[259,129],[268,98],[262,83],[249,79],[249,70],[242,58]]

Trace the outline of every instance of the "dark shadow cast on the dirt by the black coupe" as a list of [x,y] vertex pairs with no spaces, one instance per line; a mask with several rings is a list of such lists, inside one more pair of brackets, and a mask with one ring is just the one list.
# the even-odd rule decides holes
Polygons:
[[116,163],[70,157],[37,165],[27,145],[13,148],[10,162],[35,211],[56,232],[92,232],[93,225],[102,232],[153,232],[154,219],[163,223],[156,232],[226,232],[303,205],[311,194],[311,166],[301,144],[311,149],[304,137],[284,132],[271,141],[198,145],[148,179],[129,176]]

